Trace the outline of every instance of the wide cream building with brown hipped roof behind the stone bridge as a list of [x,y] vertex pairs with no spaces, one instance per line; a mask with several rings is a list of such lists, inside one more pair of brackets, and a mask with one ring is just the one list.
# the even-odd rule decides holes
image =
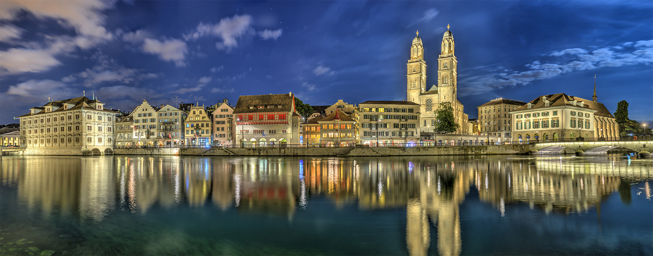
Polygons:
[[619,139],[616,119],[594,100],[564,93],[543,95],[513,114],[513,141]]

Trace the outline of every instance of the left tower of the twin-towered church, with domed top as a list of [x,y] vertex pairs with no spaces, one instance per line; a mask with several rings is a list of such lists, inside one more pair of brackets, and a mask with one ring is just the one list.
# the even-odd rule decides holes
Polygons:
[[413,39],[407,66],[407,100],[419,104],[419,95],[426,90],[426,61],[424,61],[424,45],[422,38],[419,38],[419,31]]

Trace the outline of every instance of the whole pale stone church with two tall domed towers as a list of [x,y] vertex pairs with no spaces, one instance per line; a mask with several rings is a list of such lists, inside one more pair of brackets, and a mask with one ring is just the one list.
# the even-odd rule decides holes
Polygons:
[[434,132],[436,114],[439,104],[451,102],[456,123],[460,124],[455,134],[471,134],[468,115],[464,113],[462,104],[458,101],[458,60],[456,59],[453,35],[447,31],[442,36],[441,50],[438,57],[438,85],[426,86],[426,60],[424,60],[424,44],[422,38],[413,39],[410,59],[407,63],[407,101],[415,102],[420,107],[420,131]]

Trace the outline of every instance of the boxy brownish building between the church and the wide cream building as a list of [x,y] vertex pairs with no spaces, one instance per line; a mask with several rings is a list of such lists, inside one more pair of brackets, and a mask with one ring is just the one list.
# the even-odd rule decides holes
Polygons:
[[478,123],[481,135],[490,134],[498,137],[498,142],[511,141],[513,116],[510,112],[524,104],[526,102],[520,100],[496,98],[476,107],[479,109]]

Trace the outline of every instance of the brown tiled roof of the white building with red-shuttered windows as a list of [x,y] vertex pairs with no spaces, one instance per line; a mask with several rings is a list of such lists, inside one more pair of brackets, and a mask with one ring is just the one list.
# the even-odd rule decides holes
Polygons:
[[[234,107],[234,114],[294,112],[294,104],[294,94],[246,95],[238,97],[238,103]],[[280,108],[279,105],[281,106]],[[272,108],[268,108],[268,106],[272,106]]]

